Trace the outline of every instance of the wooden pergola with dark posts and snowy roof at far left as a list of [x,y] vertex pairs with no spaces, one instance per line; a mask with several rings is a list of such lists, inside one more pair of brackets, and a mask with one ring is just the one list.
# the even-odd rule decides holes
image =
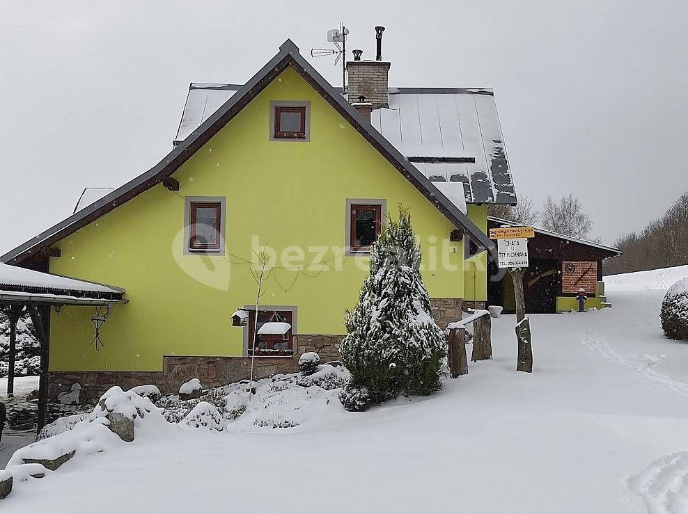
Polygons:
[[0,264],[0,306],[9,307],[10,321],[7,394],[14,394],[17,321],[26,311],[31,316],[40,343],[38,431],[45,426],[47,415],[50,308],[60,310],[65,305],[102,307],[127,303],[125,292],[106,284]]

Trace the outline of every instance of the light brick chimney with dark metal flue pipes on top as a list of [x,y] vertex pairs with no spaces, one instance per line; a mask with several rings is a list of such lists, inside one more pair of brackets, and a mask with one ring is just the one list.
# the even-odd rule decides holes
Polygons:
[[377,55],[375,61],[361,61],[363,51],[354,50],[354,60],[346,63],[349,72],[348,98],[351,104],[364,102],[373,104],[373,109],[387,106],[387,90],[389,88],[388,75],[391,63],[382,61],[382,31],[383,26],[375,27],[377,40]]

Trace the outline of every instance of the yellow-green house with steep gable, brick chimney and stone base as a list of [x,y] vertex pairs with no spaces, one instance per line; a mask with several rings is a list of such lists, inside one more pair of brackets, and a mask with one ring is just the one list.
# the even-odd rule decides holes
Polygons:
[[[221,385],[246,378],[251,354],[258,376],[292,371],[304,351],[336,360],[398,205],[438,323],[485,304],[487,204],[515,203],[492,92],[380,93],[366,80],[386,84],[389,63],[347,67],[348,99],[287,40],[241,86],[192,84],[157,166],[0,257],[125,290],[100,309],[95,342],[96,307],[50,310],[50,396]],[[288,329],[260,333],[256,318]]]

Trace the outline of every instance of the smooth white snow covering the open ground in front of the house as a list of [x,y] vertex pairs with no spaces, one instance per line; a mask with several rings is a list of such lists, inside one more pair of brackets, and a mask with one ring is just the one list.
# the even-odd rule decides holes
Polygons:
[[[688,266],[607,278],[612,310],[513,316],[494,359],[428,398],[348,413],[293,396],[301,426],[141,430],[15,485],[3,513],[688,512],[688,344],[664,339],[664,290]],[[329,400],[329,401],[328,401]]]

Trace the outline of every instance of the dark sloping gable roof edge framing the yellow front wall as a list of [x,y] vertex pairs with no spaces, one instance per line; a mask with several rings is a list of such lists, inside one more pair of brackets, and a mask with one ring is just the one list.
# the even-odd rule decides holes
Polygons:
[[406,179],[411,182],[428,200],[441,211],[456,227],[463,227],[471,239],[487,250],[494,248],[494,243],[480,231],[469,218],[460,211],[439,189],[433,185],[412,163],[410,163],[389,141],[387,141],[367,120],[359,115],[343,97],[299,54],[299,48],[286,40],[279,52],[270,59],[251,79],[245,83],[235,95],[232,95],[217,111],[208,118],[185,140],[173,147],[153,168],[130,180],[123,186],[116,188],[88,207],[72,214],[61,223],[54,225],[26,243],[17,246],[0,257],[0,262],[19,264],[33,257],[42,248],[60,241],[81,227],[88,225],[103,214],[115,209],[119,205],[143,193],[143,191],[159,184],[166,177],[175,172],[197,150],[224,127],[237,113],[260,93],[286,67],[291,66],[320,93],[320,95],[349,122],[359,134],[366,138],[378,152],[380,152]]

